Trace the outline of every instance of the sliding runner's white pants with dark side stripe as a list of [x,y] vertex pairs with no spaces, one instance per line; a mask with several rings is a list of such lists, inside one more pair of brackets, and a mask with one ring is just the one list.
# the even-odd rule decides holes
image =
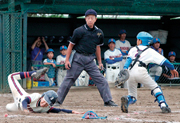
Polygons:
[[8,76],[9,87],[14,98],[14,103],[9,103],[6,105],[6,109],[8,111],[18,111],[18,109],[22,110],[21,102],[24,100],[25,96],[28,95],[28,93],[26,93],[21,87],[18,80],[21,80],[20,72],[12,73]]

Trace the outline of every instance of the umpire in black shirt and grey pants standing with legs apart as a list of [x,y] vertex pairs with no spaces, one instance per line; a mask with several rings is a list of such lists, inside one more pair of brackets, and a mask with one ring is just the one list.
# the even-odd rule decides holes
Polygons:
[[[96,84],[104,101],[104,106],[118,106],[112,101],[109,85],[94,62],[94,59],[97,56],[99,67],[103,68],[100,46],[103,45],[104,34],[101,29],[94,25],[97,20],[96,11],[93,9],[87,10],[85,13],[85,20],[86,24],[76,28],[70,40],[65,61],[67,74],[57,91],[57,103],[63,103],[69,89],[82,70],[85,70]],[[71,64],[69,62],[69,57],[72,49],[76,50],[76,53],[74,54]]]

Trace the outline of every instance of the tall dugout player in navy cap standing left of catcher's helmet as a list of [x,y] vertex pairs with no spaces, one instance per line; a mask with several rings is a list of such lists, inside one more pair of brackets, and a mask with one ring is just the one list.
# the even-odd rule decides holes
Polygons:
[[[131,44],[128,40],[126,40],[126,30],[120,30],[118,36],[120,39],[116,41],[116,48],[119,49],[123,55],[123,60],[120,62],[120,70],[122,70],[126,62],[129,49],[131,48]],[[127,88],[127,82],[125,82],[123,86],[124,88]]]

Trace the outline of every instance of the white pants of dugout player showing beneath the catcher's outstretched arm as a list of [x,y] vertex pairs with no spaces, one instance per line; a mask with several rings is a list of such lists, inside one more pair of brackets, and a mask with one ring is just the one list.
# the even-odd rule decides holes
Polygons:
[[155,76],[161,76],[162,74],[162,67],[159,65],[155,65],[149,69],[149,74],[155,80]]

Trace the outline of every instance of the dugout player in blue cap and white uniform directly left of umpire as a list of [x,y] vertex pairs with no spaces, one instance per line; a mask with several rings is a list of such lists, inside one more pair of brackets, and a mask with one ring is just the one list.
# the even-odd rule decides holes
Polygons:
[[[63,64],[65,64],[65,60],[66,60],[67,47],[61,46],[60,47],[60,53],[61,54],[58,55],[56,58],[56,63],[63,65]],[[58,68],[58,72],[57,72],[57,84],[58,84],[58,86],[61,85],[64,77],[66,76],[66,72],[67,72],[67,70],[65,69],[65,67]]]

